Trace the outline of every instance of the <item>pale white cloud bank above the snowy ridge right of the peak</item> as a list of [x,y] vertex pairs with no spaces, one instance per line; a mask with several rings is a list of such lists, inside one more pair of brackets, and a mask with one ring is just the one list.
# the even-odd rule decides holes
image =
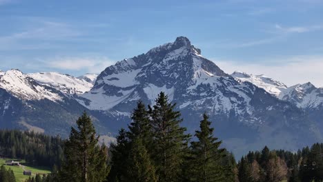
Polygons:
[[266,59],[258,63],[246,61],[233,61],[213,59],[225,72],[232,73],[235,70],[251,74],[265,74],[286,85],[311,82],[318,87],[323,87],[323,56],[300,55]]

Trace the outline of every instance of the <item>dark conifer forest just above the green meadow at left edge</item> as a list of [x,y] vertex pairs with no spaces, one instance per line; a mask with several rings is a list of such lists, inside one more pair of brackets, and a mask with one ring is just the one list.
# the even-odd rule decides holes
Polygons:
[[52,167],[63,159],[63,143],[59,136],[35,132],[0,130],[0,155],[25,159],[31,165]]

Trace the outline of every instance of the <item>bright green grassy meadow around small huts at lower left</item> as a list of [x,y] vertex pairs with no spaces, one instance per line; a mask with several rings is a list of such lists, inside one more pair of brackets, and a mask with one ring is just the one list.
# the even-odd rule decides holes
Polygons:
[[[19,161],[19,163],[21,165],[20,166],[6,165],[7,160]],[[26,165],[24,160],[18,160],[18,159],[0,159],[0,165],[5,165],[6,168],[11,168],[11,170],[14,172],[14,176],[16,177],[17,182],[25,181],[26,179],[29,178],[29,176],[23,175],[23,166],[24,166],[25,170],[30,170],[32,172],[32,176],[36,176],[36,174],[38,174],[38,173],[39,174],[48,174],[48,173],[50,173],[49,168]]]

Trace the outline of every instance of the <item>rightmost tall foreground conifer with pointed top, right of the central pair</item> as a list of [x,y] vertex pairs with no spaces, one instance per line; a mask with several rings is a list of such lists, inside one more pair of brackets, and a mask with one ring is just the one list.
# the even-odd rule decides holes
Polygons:
[[213,128],[208,116],[203,114],[200,122],[200,131],[195,131],[197,141],[192,141],[192,172],[191,181],[226,181],[225,169],[221,164],[224,157],[224,150],[219,149],[222,141],[213,136]]

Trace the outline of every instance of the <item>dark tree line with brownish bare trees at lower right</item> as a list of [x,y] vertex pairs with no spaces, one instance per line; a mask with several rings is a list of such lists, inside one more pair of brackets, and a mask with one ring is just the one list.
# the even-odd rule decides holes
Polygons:
[[323,143],[297,152],[269,150],[248,152],[238,163],[239,182],[323,181]]

